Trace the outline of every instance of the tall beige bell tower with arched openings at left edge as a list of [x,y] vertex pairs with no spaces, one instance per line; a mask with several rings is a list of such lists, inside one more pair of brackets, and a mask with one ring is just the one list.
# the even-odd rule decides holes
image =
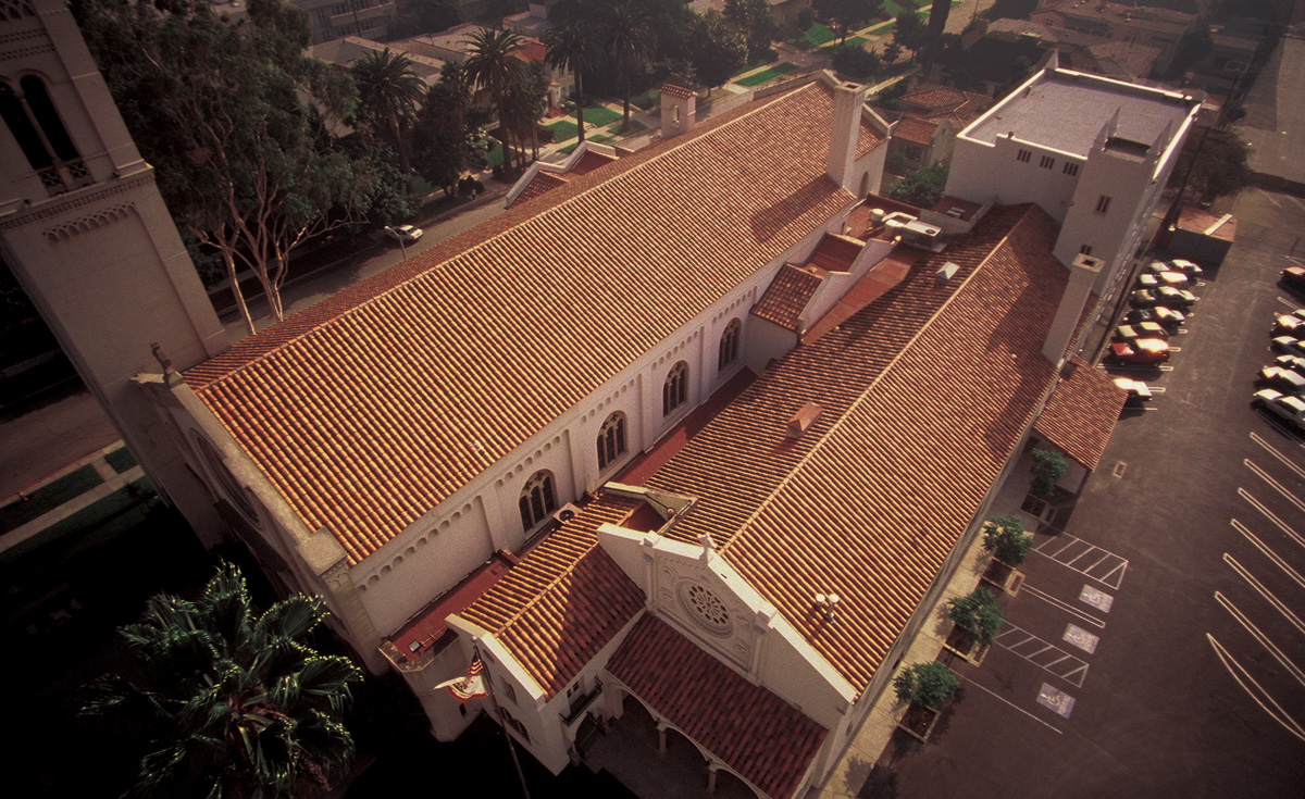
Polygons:
[[211,505],[132,377],[230,342],[63,0],[0,0],[0,257],[150,480]]

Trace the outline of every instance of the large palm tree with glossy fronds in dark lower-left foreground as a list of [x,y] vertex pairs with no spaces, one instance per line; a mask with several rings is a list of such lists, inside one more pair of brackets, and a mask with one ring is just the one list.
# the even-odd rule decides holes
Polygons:
[[128,795],[271,798],[342,772],[354,739],[338,719],[361,672],[304,642],[325,616],[320,598],[301,594],[254,616],[227,564],[194,602],[153,597],[119,629],[137,680],[100,678],[82,708],[138,735]]

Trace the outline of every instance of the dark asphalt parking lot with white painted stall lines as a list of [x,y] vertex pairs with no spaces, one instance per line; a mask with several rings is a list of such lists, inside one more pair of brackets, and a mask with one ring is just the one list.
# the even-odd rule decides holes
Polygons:
[[[1249,197],[1246,195],[1250,195]],[[1238,221],[1305,230],[1249,189]],[[927,744],[897,736],[861,796],[1300,796],[1305,444],[1250,406],[1291,238],[1238,239],[1159,367],[1111,367],[1126,410],[1067,521],[1044,526],[994,646]]]

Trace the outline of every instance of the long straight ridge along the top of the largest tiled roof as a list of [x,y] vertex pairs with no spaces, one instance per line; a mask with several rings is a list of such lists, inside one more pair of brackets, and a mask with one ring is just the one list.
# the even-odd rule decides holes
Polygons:
[[[247,368],[249,368],[249,367],[252,367],[252,366],[254,366],[257,363],[261,363],[266,358],[269,358],[273,352],[281,351],[281,350],[288,347],[290,345],[292,345],[292,343],[295,343],[298,341],[303,341],[303,339],[308,338],[309,336],[312,336],[313,333],[321,330],[322,328],[325,328],[325,326],[328,326],[330,324],[334,324],[339,319],[342,319],[342,317],[345,317],[347,315],[355,313],[355,312],[358,312],[361,308],[367,308],[367,307],[375,304],[377,300],[382,300],[382,299],[386,299],[386,298],[392,296],[397,290],[405,289],[405,287],[412,285],[415,281],[429,275],[431,273],[436,272],[441,266],[446,265],[449,261],[452,261],[454,258],[459,258],[459,257],[466,257],[466,256],[474,255],[476,252],[480,252],[483,248],[485,248],[489,244],[497,242],[500,238],[508,235],[509,232],[512,232],[514,230],[518,230],[521,227],[526,227],[526,226],[534,225],[534,223],[536,223],[536,222],[539,222],[542,219],[551,218],[555,213],[560,212],[560,209],[573,205],[579,198],[587,197],[591,192],[595,192],[599,188],[602,188],[604,185],[608,185],[608,184],[613,184],[615,185],[617,183],[621,183],[621,181],[624,181],[624,179],[628,175],[634,174],[637,170],[641,170],[641,168],[649,166],[649,164],[660,162],[663,158],[667,158],[669,154],[677,153],[683,148],[686,148],[689,145],[697,144],[698,141],[701,141],[702,138],[705,138],[706,136],[709,136],[711,133],[715,133],[718,131],[726,129],[726,128],[728,128],[731,125],[735,125],[735,124],[740,123],[741,120],[745,120],[745,119],[748,119],[748,118],[750,118],[750,116],[753,116],[756,114],[760,114],[761,111],[765,111],[765,110],[773,107],[774,104],[776,104],[778,102],[780,102],[783,99],[788,99],[788,98],[791,98],[791,97],[793,97],[793,95],[796,95],[796,94],[799,94],[801,91],[808,90],[813,85],[817,85],[817,84],[816,82],[804,84],[801,86],[795,87],[791,91],[778,91],[774,95],[767,95],[767,97],[760,98],[760,99],[758,98],[753,98],[752,101],[748,101],[748,103],[758,103],[757,107],[750,108],[750,110],[748,110],[748,111],[745,111],[743,114],[739,114],[736,116],[731,116],[729,112],[726,112],[724,115],[722,115],[720,121],[718,121],[714,127],[709,123],[709,124],[703,125],[701,131],[694,132],[694,131],[690,129],[689,134],[686,134],[683,141],[679,141],[679,142],[673,144],[672,146],[666,148],[660,153],[656,153],[655,155],[651,155],[651,157],[649,157],[646,159],[642,159],[642,161],[638,161],[638,162],[632,162],[628,170],[617,172],[616,175],[612,175],[612,176],[606,178],[603,180],[594,180],[594,183],[591,185],[587,185],[587,187],[577,191],[574,195],[562,197],[555,205],[549,205],[548,208],[543,208],[543,209],[540,209],[539,212],[536,212],[534,214],[525,215],[519,222],[509,225],[508,227],[504,227],[502,230],[495,231],[493,235],[491,235],[491,236],[488,236],[485,239],[480,239],[479,242],[475,242],[475,243],[472,243],[471,245],[468,245],[468,247],[466,247],[463,249],[459,249],[458,252],[455,252],[455,253],[445,257],[444,260],[441,260],[441,261],[438,261],[436,264],[432,264],[431,266],[423,269],[422,272],[419,272],[416,274],[411,274],[411,275],[405,277],[403,279],[398,281],[393,286],[390,286],[388,289],[384,289],[378,294],[373,294],[373,295],[371,295],[368,298],[364,298],[364,299],[359,300],[356,304],[352,304],[352,306],[350,306],[350,307],[347,307],[347,308],[345,308],[345,309],[342,309],[342,311],[339,311],[337,313],[331,313],[331,315],[326,316],[325,319],[317,320],[311,326],[308,326],[304,330],[300,330],[300,332],[290,336],[284,341],[281,341],[279,343],[277,343],[277,345],[274,345],[274,346],[264,350],[262,352],[258,352],[256,355],[251,355],[248,359],[241,360],[238,364],[234,364],[231,368],[226,369],[221,376],[210,376],[210,377],[205,379],[200,384],[200,386],[201,388],[206,388],[206,386],[209,386],[209,385],[211,385],[211,384],[214,384],[214,383],[217,383],[219,380],[230,377],[231,375],[235,375],[235,373],[241,372],[241,371],[244,371],[244,369],[247,369]],[[761,102],[761,101],[765,101],[765,102]],[[743,107],[745,107],[745,106],[746,106],[746,103]],[[666,140],[663,140],[663,141],[666,141]],[[620,162],[621,162],[621,159],[615,161],[615,163],[620,163]],[[583,178],[583,175],[581,175],[581,178]],[[574,187],[577,181],[574,181],[574,180],[566,180],[565,183],[566,183],[566,185]],[[559,188],[562,188],[562,187],[559,187]],[[525,208],[529,208],[529,205],[525,206]],[[401,268],[402,268],[402,262],[397,264],[395,266],[392,266],[390,269],[401,269]],[[381,274],[388,273],[390,269],[386,269],[386,270],[382,270],[381,273],[377,273],[376,277],[380,277]],[[355,285],[363,285],[363,283],[355,283]],[[343,291],[347,291],[347,290],[348,290],[348,287],[346,287],[345,290],[338,291],[338,292],[333,294],[333,295],[322,299],[321,302],[322,303],[328,303],[333,298],[341,295]],[[311,306],[309,308],[305,308],[304,312],[308,312],[312,307],[316,307],[316,306]],[[295,316],[298,316],[298,315],[295,315]],[[275,328],[279,328],[281,325],[284,325],[287,322],[292,322],[292,320],[295,319],[295,316],[291,316],[291,317],[287,317],[284,320],[281,320],[279,322],[277,322],[271,328],[265,329],[265,332],[266,330],[274,330]],[[221,358],[221,355],[215,356],[215,358]],[[206,363],[209,363],[211,360],[213,360],[211,358],[207,359],[207,360],[202,360],[198,364],[196,364],[196,367],[202,367],[204,364],[206,364]],[[193,369],[196,367],[191,367],[191,368]],[[185,371],[188,372],[191,369],[185,369]]]

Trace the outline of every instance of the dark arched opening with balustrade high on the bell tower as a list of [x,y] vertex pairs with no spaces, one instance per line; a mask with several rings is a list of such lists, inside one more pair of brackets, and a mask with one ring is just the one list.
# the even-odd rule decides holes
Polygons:
[[27,163],[51,195],[93,183],[68,128],[59,119],[46,84],[34,74],[18,81],[20,91],[0,84],[0,119],[13,134]]

